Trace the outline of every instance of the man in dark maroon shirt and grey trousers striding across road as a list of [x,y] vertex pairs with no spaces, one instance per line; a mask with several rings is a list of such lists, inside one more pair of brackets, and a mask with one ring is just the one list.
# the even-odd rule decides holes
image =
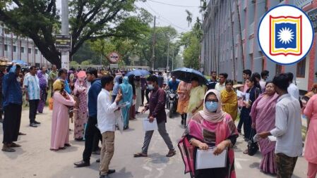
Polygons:
[[[167,122],[167,117],[165,113],[165,91],[158,86],[157,77],[155,75],[150,75],[147,81],[148,89],[151,90],[151,95],[149,104],[145,106],[145,108],[142,110],[142,113],[144,113],[145,110],[150,109],[150,115],[148,115],[149,122],[153,122],[156,119],[158,132],[169,148],[169,153],[167,153],[166,156],[172,157],[176,154],[176,151],[165,128],[165,123]],[[150,145],[153,132],[154,130],[149,130],[145,132],[142,152],[134,154],[135,158],[148,156],[148,146]]]

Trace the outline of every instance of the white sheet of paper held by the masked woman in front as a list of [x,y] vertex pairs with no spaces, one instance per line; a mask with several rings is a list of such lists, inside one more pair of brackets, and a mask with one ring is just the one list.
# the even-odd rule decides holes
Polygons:
[[225,167],[227,163],[227,149],[225,149],[220,155],[214,155],[214,148],[209,148],[208,151],[197,150],[196,154],[196,169],[210,169]]

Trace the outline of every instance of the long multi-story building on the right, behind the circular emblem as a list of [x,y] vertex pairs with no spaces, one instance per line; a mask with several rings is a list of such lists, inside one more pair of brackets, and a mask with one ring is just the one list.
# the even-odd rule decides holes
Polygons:
[[203,21],[201,65],[206,75],[227,72],[229,78],[242,82],[242,71],[270,71],[270,79],[280,72],[292,72],[299,89],[311,89],[317,82],[316,34],[310,53],[294,65],[277,65],[266,58],[258,44],[258,24],[263,15],[279,4],[292,4],[306,13],[317,27],[317,0],[213,0]]

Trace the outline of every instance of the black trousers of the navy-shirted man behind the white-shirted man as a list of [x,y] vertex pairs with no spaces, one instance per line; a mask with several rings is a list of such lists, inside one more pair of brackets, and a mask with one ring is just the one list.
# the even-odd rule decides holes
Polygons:
[[[92,147],[95,146],[96,139],[94,139],[95,135],[100,134],[100,130],[96,127],[97,118],[89,117],[87,122],[87,127],[85,131],[85,150],[83,151],[83,160],[85,162],[90,161],[90,156],[92,152]],[[99,143],[99,139],[97,139]]]

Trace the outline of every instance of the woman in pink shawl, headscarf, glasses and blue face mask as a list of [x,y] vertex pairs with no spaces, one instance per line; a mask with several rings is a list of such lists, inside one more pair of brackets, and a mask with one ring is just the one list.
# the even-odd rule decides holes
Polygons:
[[[192,178],[236,178],[233,146],[238,136],[232,117],[222,111],[220,93],[210,89],[205,94],[203,110],[193,115],[185,136],[179,141],[185,174],[190,172]],[[215,155],[228,149],[226,167],[196,170],[197,149],[208,150],[212,146]]]

